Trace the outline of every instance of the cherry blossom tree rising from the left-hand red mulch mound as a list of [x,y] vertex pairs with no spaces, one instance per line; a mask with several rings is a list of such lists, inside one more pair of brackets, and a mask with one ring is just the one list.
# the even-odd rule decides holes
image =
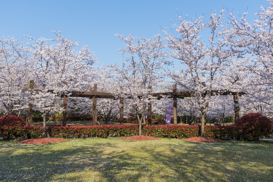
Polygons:
[[46,115],[62,111],[61,96],[87,84],[85,78],[96,61],[88,47],[75,52],[77,42],[68,40],[60,32],[54,34],[55,39],[41,37],[36,40],[28,36],[31,42],[27,42],[31,55],[29,71],[35,88],[41,89],[41,92],[33,94],[32,103],[34,109],[43,113],[43,137],[46,134]]

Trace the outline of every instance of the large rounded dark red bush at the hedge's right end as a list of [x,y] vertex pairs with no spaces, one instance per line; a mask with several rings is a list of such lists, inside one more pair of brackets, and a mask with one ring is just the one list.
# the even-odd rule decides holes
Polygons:
[[235,126],[238,128],[239,138],[249,141],[266,138],[272,134],[273,130],[273,122],[259,113],[243,116],[236,121]]

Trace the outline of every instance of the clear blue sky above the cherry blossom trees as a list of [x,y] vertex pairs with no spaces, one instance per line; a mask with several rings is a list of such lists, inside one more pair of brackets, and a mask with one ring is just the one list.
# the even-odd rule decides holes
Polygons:
[[248,11],[249,20],[265,0],[169,0],[169,1],[70,1],[70,0],[0,0],[0,36],[15,36],[23,41],[24,35],[53,38],[52,30],[80,46],[89,45],[101,64],[121,64],[123,57],[116,51],[124,47],[114,34],[150,37],[172,27],[178,13],[189,18],[220,9],[233,13]]

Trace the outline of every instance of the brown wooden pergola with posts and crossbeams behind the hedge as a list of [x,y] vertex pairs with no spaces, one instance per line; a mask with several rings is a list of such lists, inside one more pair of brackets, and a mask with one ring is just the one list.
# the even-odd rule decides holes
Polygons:
[[[30,81],[29,84],[29,89],[23,89],[22,92],[42,92],[41,89],[33,89],[34,82],[33,80]],[[48,90],[48,92],[53,93],[54,90]],[[227,95],[232,95],[233,96],[233,102],[235,104],[234,106],[234,112],[235,112],[235,119],[240,118],[240,107],[238,106],[239,104],[239,97],[241,95],[245,95],[246,93],[243,92],[230,92],[228,90],[212,90],[211,92],[207,90],[204,95],[210,95],[210,96],[227,96]],[[176,84],[173,84],[173,92],[167,92],[167,93],[151,93],[150,94],[152,97],[155,97],[157,99],[163,99],[163,98],[173,98],[173,117],[174,117],[174,124],[177,124],[177,98],[179,99],[184,99],[186,97],[194,97],[193,93],[187,92],[187,91],[182,91],[182,92],[177,92]],[[61,95],[63,97],[63,121],[62,121],[62,126],[66,126],[67,122],[67,95]],[[93,125],[96,125],[97,122],[97,98],[105,98],[105,99],[116,99],[114,94],[111,93],[100,93],[97,92],[97,84],[94,84],[93,92],[77,92],[77,91],[71,91],[69,92],[69,97],[83,97],[83,98],[92,98],[93,100],[93,106],[92,106],[92,115],[93,115]],[[141,97],[139,95],[138,97]],[[120,121],[121,123],[123,122],[123,112],[124,112],[124,99],[120,98]],[[148,104],[148,124],[151,125],[151,102]],[[32,122],[32,105],[29,104],[28,107],[28,121],[29,123]]]

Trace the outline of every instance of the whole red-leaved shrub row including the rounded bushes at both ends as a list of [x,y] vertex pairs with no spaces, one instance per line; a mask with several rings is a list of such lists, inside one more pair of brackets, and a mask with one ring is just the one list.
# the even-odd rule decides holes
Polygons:
[[[135,122],[135,118],[127,118]],[[153,120],[158,121],[158,120]],[[258,140],[272,134],[273,122],[260,114],[247,114],[232,126],[205,126],[205,137],[222,140]],[[131,136],[138,134],[136,125],[101,125],[47,127],[47,134],[55,138]],[[189,138],[200,135],[201,126],[188,125],[143,125],[143,135],[162,138]],[[4,138],[37,138],[42,134],[41,126],[25,126],[17,116],[7,115],[0,118],[0,137]]]

